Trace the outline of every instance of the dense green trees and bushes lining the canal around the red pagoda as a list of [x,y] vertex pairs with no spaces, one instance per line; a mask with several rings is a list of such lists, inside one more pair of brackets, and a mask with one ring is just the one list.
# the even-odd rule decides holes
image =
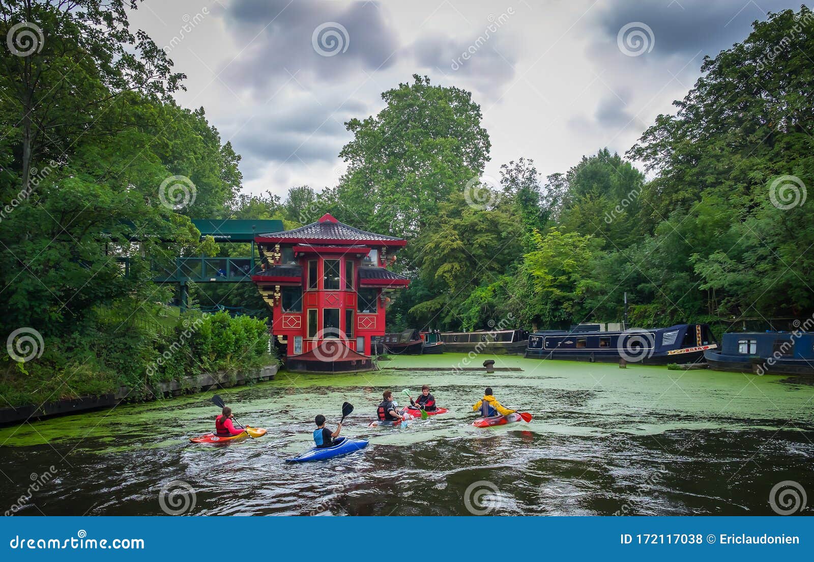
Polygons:
[[[381,112],[348,121],[337,185],[281,198],[239,193],[240,156],[204,108],[173,100],[185,77],[129,29],[129,2],[72,5],[11,0],[0,11],[3,37],[20,22],[43,36],[28,55],[2,50],[0,323],[4,336],[42,338],[2,359],[9,403],[262,360],[264,320],[218,314],[158,364],[198,317],[166,313],[173,288],[153,282],[155,262],[247,253],[201,239],[190,217],[290,228],[330,212],[405,237],[396,269],[411,283],[388,311],[392,330],[484,329],[510,314],[527,329],[615,322],[625,292],[641,326],[814,310],[805,7],[710,54],[676,113],[624,155],[594,147],[545,178],[532,159],[545,155],[518,155],[484,177],[491,143],[479,104],[415,76],[383,93]],[[186,189],[168,194],[177,177]],[[200,283],[190,297],[268,318],[251,283]],[[177,321],[167,326],[168,316]]]

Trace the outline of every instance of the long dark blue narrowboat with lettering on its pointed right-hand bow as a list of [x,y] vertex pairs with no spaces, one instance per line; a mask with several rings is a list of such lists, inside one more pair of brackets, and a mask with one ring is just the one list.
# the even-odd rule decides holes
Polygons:
[[624,331],[536,331],[528,337],[527,358],[640,362],[644,365],[692,363],[718,344],[707,324]]

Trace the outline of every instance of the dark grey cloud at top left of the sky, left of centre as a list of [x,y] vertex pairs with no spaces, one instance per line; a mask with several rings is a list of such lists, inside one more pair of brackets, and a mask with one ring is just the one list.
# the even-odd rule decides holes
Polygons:
[[[238,45],[246,45],[225,74],[257,90],[291,74],[297,81],[353,80],[362,70],[387,68],[396,60],[395,29],[375,2],[235,0],[223,15]],[[344,29],[326,27],[315,48],[315,29],[330,22]],[[323,56],[317,49],[335,54]]]

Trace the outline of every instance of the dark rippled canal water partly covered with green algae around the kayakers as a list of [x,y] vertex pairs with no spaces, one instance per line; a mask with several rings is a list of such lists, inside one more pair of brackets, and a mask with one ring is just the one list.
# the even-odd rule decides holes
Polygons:
[[[229,446],[188,441],[212,430],[212,393],[2,428],[0,510],[772,515],[774,489],[779,509],[812,513],[799,493],[814,494],[811,380],[500,355],[497,367],[522,371],[488,375],[466,371],[465,357],[395,357],[360,375],[281,372],[221,391],[239,421],[268,429]],[[367,427],[383,390],[403,403],[400,390],[418,393],[422,384],[448,415],[397,430]],[[471,404],[486,386],[532,422],[473,427]],[[285,463],[310,446],[314,415],[333,428],[344,401],[356,409],[343,434],[370,446],[322,463]]]

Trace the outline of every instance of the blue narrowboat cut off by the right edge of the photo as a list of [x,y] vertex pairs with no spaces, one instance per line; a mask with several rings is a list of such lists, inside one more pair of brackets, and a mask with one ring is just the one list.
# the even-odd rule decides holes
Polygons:
[[730,332],[724,334],[720,351],[705,351],[704,358],[717,371],[812,375],[814,332]]

